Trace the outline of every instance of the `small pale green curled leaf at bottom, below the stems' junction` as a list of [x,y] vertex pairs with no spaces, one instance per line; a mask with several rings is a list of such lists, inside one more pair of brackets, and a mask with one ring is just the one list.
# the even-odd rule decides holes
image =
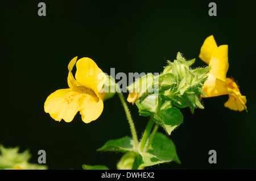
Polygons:
[[135,161],[136,154],[134,152],[128,152],[122,156],[117,163],[118,170],[131,170]]

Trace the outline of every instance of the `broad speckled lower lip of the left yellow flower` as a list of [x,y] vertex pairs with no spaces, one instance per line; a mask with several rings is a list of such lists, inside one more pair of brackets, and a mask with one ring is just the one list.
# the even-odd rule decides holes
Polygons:
[[44,111],[56,121],[61,119],[71,122],[76,113],[82,113],[82,120],[85,123],[96,120],[103,111],[103,102],[94,93],[85,87],[80,91],[72,89],[60,89],[48,96],[44,103]]

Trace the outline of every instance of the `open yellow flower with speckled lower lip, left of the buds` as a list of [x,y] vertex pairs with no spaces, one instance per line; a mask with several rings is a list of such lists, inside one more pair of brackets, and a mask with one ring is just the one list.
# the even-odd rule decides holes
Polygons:
[[[105,92],[102,86],[106,75],[90,58],[73,58],[68,64],[69,89],[60,89],[48,96],[44,103],[44,111],[56,121],[63,119],[71,122],[80,111],[82,121],[90,123],[96,120],[103,111]],[[76,64],[75,78],[72,74]]]

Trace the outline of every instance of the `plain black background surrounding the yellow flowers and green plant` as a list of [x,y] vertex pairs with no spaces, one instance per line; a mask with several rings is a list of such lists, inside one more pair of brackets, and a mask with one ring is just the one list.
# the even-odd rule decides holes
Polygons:
[[[47,96],[68,88],[69,61],[90,57],[108,74],[110,68],[154,73],[181,52],[188,60],[196,58],[193,66],[204,66],[200,48],[214,35],[217,45],[229,45],[227,77],[238,81],[248,112],[225,108],[228,95],[204,99],[205,110],[193,115],[183,109],[184,122],[170,136],[181,165],[147,169],[256,169],[253,1],[213,1],[217,16],[208,15],[210,1],[43,1],[46,16],[38,16],[39,2],[0,2],[0,144],[29,149],[32,163],[38,150],[46,150],[49,169],[82,164],[116,169],[122,154],[96,149],[131,135],[117,95],[90,124],[79,113],[71,123],[59,123],[44,112]],[[129,107],[141,136],[148,118]],[[208,162],[212,149],[217,164]]]

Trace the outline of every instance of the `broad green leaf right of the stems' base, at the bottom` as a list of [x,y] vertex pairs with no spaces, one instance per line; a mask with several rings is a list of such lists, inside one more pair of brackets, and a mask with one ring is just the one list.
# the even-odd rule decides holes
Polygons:
[[177,157],[174,142],[166,135],[157,132],[154,140],[146,153],[141,153],[141,167],[157,165],[159,163],[166,163],[176,161],[180,163]]

